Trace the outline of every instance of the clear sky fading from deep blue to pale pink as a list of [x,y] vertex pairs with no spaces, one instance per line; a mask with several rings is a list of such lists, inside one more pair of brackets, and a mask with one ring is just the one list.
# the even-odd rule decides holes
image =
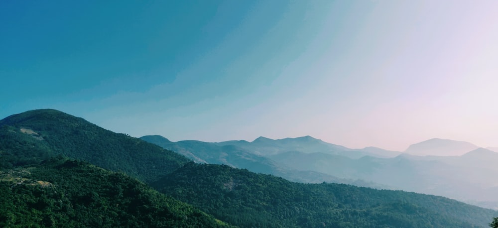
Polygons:
[[498,146],[496,0],[0,2],[0,118],[131,136]]

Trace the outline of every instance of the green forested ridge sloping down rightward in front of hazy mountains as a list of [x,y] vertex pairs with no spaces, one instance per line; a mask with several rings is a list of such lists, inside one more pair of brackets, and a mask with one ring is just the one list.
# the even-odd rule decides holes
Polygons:
[[189,163],[159,192],[241,227],[487,227],[496,211],[444,197],[344,184],[299,184],[226,165]]

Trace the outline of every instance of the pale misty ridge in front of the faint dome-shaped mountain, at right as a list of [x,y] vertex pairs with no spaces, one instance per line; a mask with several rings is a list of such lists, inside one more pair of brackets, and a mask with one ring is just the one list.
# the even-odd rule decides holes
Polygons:
[[364,156],[351,159],[325,153],[286,152],[268,156],[296,170],[364,180],[424,194],[440,195],[478,206],[498,209],[498,153],[476,149],[462,156],[414,156],[394,158]]

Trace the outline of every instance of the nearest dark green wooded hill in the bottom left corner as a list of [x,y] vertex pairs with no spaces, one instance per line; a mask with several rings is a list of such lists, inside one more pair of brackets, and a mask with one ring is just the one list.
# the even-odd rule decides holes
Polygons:
[[124,174],[52,158],[0,171],[0,227],[229,227]]

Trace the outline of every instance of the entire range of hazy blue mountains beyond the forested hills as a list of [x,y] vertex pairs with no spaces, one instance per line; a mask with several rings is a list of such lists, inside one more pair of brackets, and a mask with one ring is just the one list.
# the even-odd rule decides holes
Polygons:
[[498,153],[463,141],[434,138],[397,152],[376,147],[350,149],[311,136],[214,143],[171,142],[158,135],[141,139],[196,162],[226,164],[302,183],[325,181],[400,189],[498,209],[498,196],[494,194]]

